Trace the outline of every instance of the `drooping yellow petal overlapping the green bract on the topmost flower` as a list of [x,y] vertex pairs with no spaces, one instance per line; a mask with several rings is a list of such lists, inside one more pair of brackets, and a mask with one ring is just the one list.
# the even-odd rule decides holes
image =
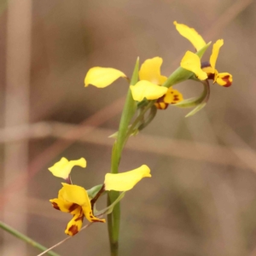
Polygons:
[[207,73],[201,70],[201,61],[198,55],[191,51],[187,51],[183,56],[180,66],[195,73],[196,77],[201,80],[207,79]]

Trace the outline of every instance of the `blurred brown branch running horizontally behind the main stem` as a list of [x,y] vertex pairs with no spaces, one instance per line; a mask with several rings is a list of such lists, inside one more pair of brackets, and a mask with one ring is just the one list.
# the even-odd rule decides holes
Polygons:
[[[40,122],[33,125],[21,125],[12,129],[0,130],[0,143],[12,143],[24,139],[40,139],[44,137],[55,137],[61,141],[81,143],[96,143],[111,147],[113,139],[108,138],[115,131],[94,126],[83,126],[84,133],[77,134],[70,131],[77,131],[79,125],[63,123]],[[84,136],[85,131],[90,132],[90,136]],[[154,147],[148,147],[154,145]],[[127,144],[127,148],[153,154],[163,154],[181,157],[190,160],[203,160],[224,166],[236,166],[249,168],[256,172],[256,152],[252,148],[238,148],[230,146],[210,145],[207,143],[195,143],[184,140],[170,139],[166,137],[153,137],[140,134],[136,139],[132,139]]]

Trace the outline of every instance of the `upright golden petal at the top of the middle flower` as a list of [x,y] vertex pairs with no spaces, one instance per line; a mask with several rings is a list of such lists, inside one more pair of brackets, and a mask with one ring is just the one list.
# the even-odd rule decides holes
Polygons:
[[154,57],[144,61],[139,71],[140,80],[147,80],[158,85],[163,84],[167,78],[160,74],[160,67],[162,63],[163,59],[160,57]]

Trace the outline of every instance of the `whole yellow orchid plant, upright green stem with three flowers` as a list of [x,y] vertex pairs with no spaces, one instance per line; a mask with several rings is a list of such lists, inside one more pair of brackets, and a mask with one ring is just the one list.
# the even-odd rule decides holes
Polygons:
[[[73,166],[84,168],[86,166],[84,158],[71,161],[61,158],[49,168],[54,176],[66,181],[62,183],[58,197],[50,200],[55,209],[73,215],[67,224],[65,233],[69,236],[78,233],[84,217],[89,222],[104,223],[105,219],[102,216],[111,214],[108,215],[108,234],[112,255],[118,254],[119,201],[124,197],[125,191],[132,189],[143,177],[151,177],[146,165],[130,172],[119,173],[122,150],[129,137],[142,131],[154,119],[158,109],[166,109],[169,105],[178,108],[194,108],[187,116],[195,114],[208,101],[209,80],[212,80],[213,84],[217,83],[224,87],[232,84],[230,73],[218,73],[216,69],[219,49],[223,46],[224,40],[218,39],[213,44],[209,61],[201,61],[211,42],[206,43],[201,35],[189,26],[179,24],[177,21],[174,21],[174,25],[177,32],[193,44],[195,52],[187,51],[180,61],[180,67],[177,67],[169,77],[160,73],[163,60],[158,56],[144,61],[140,68],[137,59],[131,79],[125,73],[111,67],[92,67],[85,76],[85,87],[91,84],[97,88],[105,88],[119,78],[126,79],[130,84],[119,123],[119,131],[111,136],[115,142],[113,143],[110,173],[106,174],[104,182],[88,190],[72,183],[71,170]],[[189,79],[203,84],[204,90],[201,96],[183,99],[182,93],[173,89],[172,86]],[[97,211],[96,201],[104,194],[108,194],[108,207]]]

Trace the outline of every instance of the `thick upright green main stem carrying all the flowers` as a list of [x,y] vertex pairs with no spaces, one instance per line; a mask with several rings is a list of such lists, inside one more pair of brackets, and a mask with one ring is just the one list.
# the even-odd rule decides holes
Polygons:
[[[136,65],[131,78],[131,85],[137,83],[138,80],[138,67],[139,59],[137,59]],[[116,142],[113,144],[112,159],[111,159],[111,173],[119,172],[119,162],[121,160],[121,154],[126,142],[126,134],[128,130],[128,125],[136,112],[137,104],[131,96],[131,90],[129,88],[125,107],[119,123],[119,131]],[[108,206],[113,203],[119,197],[119,192],[109,191],[108,192]],[[120,224],[120,204],[118,203],[111,214],[108,214],[108,236],[110,242],[110,250],[112,256],[118,255],[119,248],[119,224]]]

